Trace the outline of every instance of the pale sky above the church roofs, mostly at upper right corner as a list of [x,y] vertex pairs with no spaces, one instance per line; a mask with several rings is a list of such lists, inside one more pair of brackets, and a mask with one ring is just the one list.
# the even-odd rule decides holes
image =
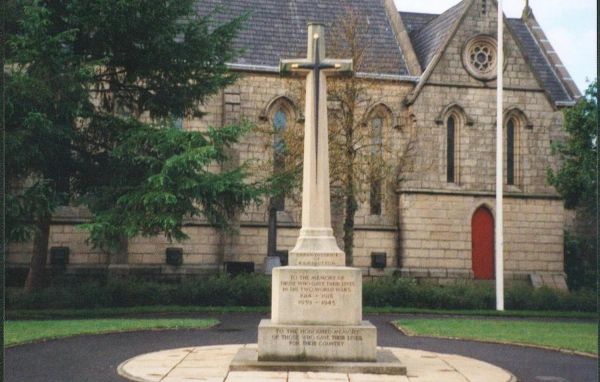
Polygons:
[[[442,13],[460,0],[394,0],[401,12]],[[597,77],[596,0],[529,0],[533,14],[583,91]],[[525,0],[503,0],[507,17],[521,17]]]

